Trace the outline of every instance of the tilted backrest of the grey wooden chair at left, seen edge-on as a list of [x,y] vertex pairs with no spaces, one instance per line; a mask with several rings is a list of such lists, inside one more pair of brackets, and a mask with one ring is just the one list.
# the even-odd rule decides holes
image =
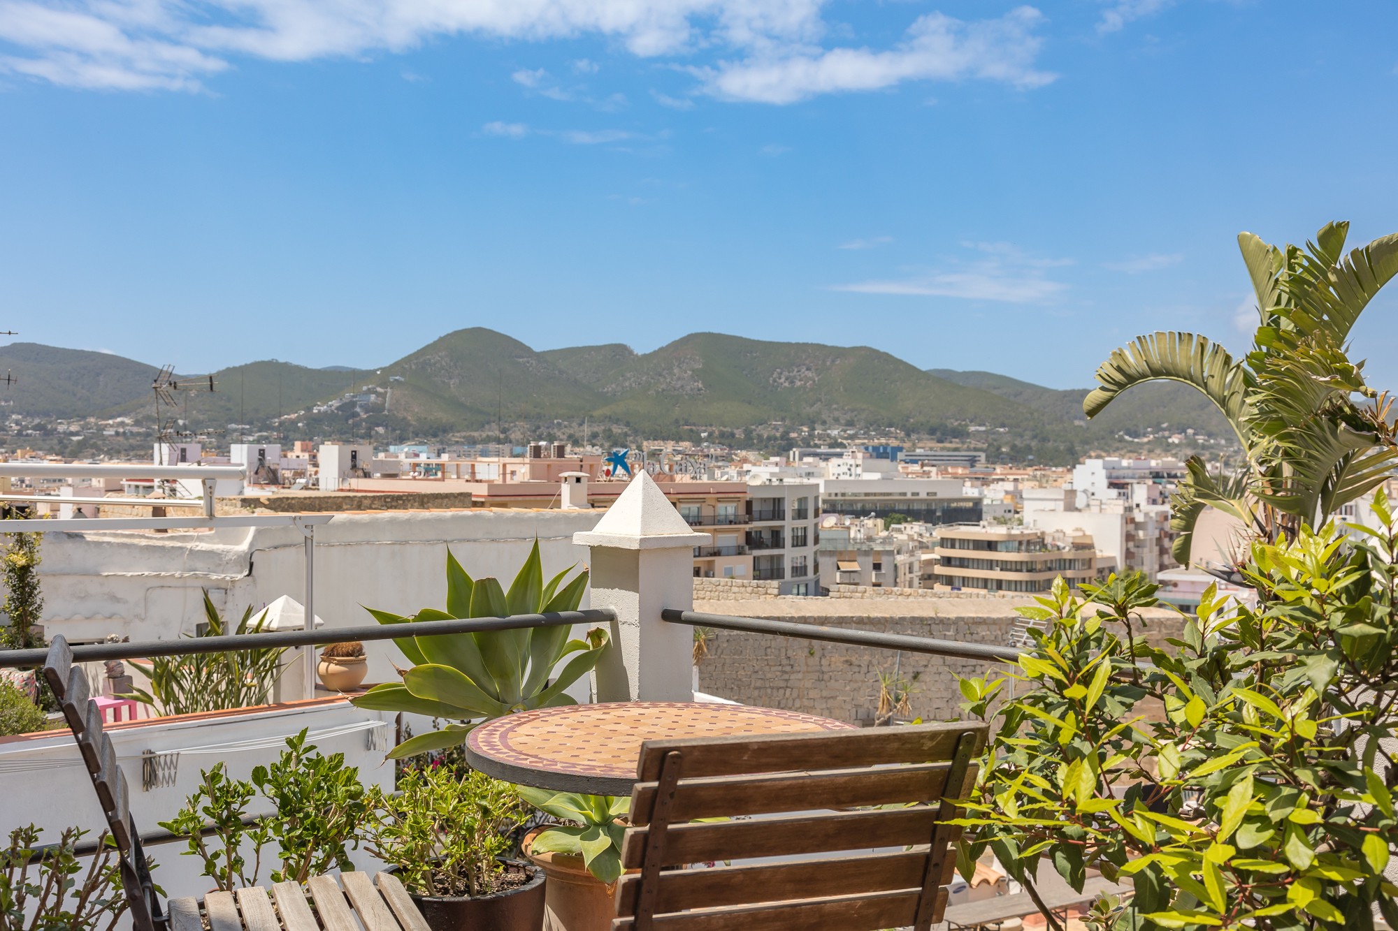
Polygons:
[[154,931],[164,924],[155,885],[141,850],[141,836],[131,821],[130,790],[126,776],[116,763],[112,738],[102,731],[102,712],[88,693],[87,675],[73,665],[73,650],[62,636],[53,637],[43,663],[43,678],[53,689],[63,709],[63,717],[73,730],[82,765],[92,777],[98,804],[106,816],[108,829],[116,843],[122,889],[130,903],[131,925],[136,931]]

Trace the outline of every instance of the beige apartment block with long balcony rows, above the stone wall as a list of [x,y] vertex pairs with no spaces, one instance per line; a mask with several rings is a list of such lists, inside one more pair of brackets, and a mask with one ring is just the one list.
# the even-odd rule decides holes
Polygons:
[[1043,593],[1058,576],[1075,586],[1102,582],[1117,565],[1083,530],[987,524],[939,527],[937,556],[937,587],[953,591]]

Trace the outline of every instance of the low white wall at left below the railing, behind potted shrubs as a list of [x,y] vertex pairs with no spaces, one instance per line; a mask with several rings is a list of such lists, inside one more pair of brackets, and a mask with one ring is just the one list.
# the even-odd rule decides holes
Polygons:
[[[310,744],[324,755],[344,753],[347,766],[359,767],[363,784],[393,784],[393,763],[384,753],[393,746],[394,716],[389,712],[365,712],[344,699],[292,702],[239,712],[185,714],[109,724],[105,730],[116,748],[117,763],[130,786],[131,816],[141,833],[159,830],[159,823],[175,816],[200,781],[200,772],[224,763],[233,779],[247,779],[253,766],[275,760],[285,749],[285,738],[308,731]],[[158,756],[159,786],[145,788],[143,755]],[[260,800],[257,800],[260,801]],[[250,814],[267,814],[267,805],[254,801]],[[78,758],[77,744],[67,731],[0,737],[0,825],[17,828],[34,823],[43,829],[41,843],[52,843],[64,828],[87,828],[95,840],[105,826],[92,780]],[[147,850],[159,864],[154,871],[157,885],[172,896],[201,896],[211,881],[201,876],[197,857],[185,856],[186,844],[161,844]],[[252,850],[246,850],[249,868]],[[275,865],[275,847],[264,850],[261,881]],[[355,864],[372,868],[376,861],[354,854]]]

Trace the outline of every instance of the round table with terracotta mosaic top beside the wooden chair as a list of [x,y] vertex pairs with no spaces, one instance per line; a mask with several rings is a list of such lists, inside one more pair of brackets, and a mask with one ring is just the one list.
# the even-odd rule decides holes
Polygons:
[[466,759],[482,773],[521,786],[629,795],[644,741],[849,727],[828,717],[748,705],[569,705],[519,712],[481,724],[466,739]]

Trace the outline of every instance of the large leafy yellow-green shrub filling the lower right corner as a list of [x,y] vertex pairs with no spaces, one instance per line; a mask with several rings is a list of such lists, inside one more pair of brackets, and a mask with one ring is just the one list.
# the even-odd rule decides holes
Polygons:
[[[1099,906],[1113,931],[1370,930],[1376,906],[1398,925],[1398,519],[1373,509],[1357,538],[1254,544],[1258,605],[1211,589],[1170,651],[1141,637],[1141,575],[1022,609],[1047,629],[997,714],[963,872],[990,847],[1030,890],[1042,860],[1078,889],[1130,876]],[[1005,681],[963,679],[963,707],[986,716]]]

